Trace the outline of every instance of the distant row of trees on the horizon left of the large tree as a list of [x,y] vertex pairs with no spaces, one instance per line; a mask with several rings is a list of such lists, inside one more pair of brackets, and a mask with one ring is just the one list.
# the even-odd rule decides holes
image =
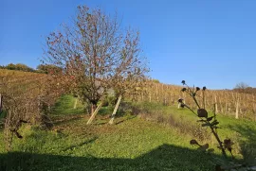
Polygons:
[[8,65],[0,65],[0,69],[48,74],[49,71],[51,70],[56,70],[56,69],[58,70],[58,67],[51,64],[40,64],[36,67],[36,69],[33,69],[23,63],[17,63],[17,64],[9,63]]

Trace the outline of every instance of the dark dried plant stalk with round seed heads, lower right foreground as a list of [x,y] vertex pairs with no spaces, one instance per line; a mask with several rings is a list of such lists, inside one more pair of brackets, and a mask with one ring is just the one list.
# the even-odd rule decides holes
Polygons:
[[[215,170],[216,171],[224,171],[224,170],[254,170],[255,167],[248,167],[246,165],[242,165],[242,164],[238,164],[236,162],[229,162],[228,161],[228,155],[227,155],[227,151],[229,151],[232,159],[234,159],[234,156],[232,154],[232,145],[233,142],[230,139],[225,139],[224,141],[221,140],[217,129],[219,128],[219,121],[217,120],[216,117],[216,112],[214,110],[213,115],[210,116],[208,111],[205,109],[205,91],[206,91],[206,87],[203,87],[202,91],[202,96],[199,96],[197,93],[201,90],[199,87],[190,87],[186,84],[185,80],[182,80],[181,82],[183,84],[183,89],[181,90],[184,93],[189,94],[192,97],[192,100],[194,101],[194,103],[196,104],[197,107],[197,111],[193,111],[192,108],[190,108],[189,105],[185,104],[183,99],[178,99],[178,103],[180,104],[181,108],[187,108],[190,111],[192,111],[192,113],[197,116],[199,118],[198,122],[201,123],[201,127],[202,128],[210,128],[210,132],[212,133],[212,135],[214,136],[214,138],[216,139],[216,141],[218,142],[218,148],[221,150],[223,157],[225,158],[224,161],[219,161],[220,164],[216,164],[215,165]],[[203,105],[199,105],[199,101],[198,98],[202,99],[202,104]],[[214,108],[215,109],[215,108]],[[195,139],[192,139],[190,142],[191,145],[197,145],[199,150],[202,151],[206,151],[208,153],[211,153],[214,151],[213,148],[210,148],[209,144],[205,144],[205,145],[200,145]]]

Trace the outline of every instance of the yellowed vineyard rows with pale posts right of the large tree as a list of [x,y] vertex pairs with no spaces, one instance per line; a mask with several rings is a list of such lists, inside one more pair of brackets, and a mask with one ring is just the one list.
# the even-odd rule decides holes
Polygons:
[[[138,96],[139,101],[161,103],[168,106],[178,106],[177,99],[182,98],[185,103],[196,109],[192,98],[181,91],[181,86],[166,85],[162,83],[149,82],[144,93]],[[198,95],[201,106],[205,104],[206,109],[216,111],[230,117],[245,118],[256,121],[256,95],[237,93],[231,90],[207,90],[205,99],[203,92]]]

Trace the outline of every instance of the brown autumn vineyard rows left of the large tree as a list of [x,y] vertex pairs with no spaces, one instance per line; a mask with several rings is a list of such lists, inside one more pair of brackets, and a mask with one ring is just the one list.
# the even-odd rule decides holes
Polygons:
[[[49,88],[49,86],[52,88],[52,80],[45,74],[0,70],[1,119],[2,125],[5,126],[8,149],[13,136],[22,138],[19,133],[22,124],[29,123],[43,127],[50,124],[48,117],[50,107],[62,93]],[[57,82],[54,86],[58,86]]]

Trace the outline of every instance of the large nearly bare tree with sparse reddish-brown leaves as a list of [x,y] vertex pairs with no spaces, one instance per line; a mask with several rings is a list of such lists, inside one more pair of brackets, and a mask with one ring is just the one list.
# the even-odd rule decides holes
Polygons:
[[72,78],[73,92],[91,105],[91,113],[108,89],[119,84],[128,88],[124,82],[148,71],[138,32],[122,30],[117,14],[111,17],[86,6],[78,7],[72,25],[46,37],[45,52],[45,62]]

